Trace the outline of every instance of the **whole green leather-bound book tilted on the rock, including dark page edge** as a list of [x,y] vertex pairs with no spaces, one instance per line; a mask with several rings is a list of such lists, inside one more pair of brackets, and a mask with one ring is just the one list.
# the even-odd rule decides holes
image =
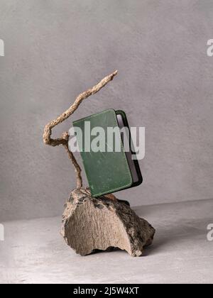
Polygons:
[[74,121],[73,126],[93,197],[142,183],[138,160],[132,159],[133,150],[124,150],[126,143],[121,128],[125,127],[130,135],[124,111],[108,109]]

